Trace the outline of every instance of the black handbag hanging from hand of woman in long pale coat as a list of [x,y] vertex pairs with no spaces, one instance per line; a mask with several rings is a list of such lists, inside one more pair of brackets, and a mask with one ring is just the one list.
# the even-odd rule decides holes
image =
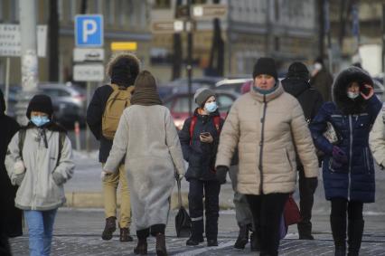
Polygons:
[[190,237],[191,230],[192,230],[192,220],[189,216],[189,213],[187,213],[186,209],[184,209],[182,205],[181,180],[177,178],[176,183],[178,185],[178,204],[179,204],[179,210],[175,216],[176,236]]

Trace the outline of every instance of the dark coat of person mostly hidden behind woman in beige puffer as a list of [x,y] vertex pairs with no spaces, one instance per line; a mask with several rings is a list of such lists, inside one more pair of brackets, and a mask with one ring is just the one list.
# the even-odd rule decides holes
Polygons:
[[[286,78],[281,82],[284,90],[296,97],[304,110],[306,122],[310,124],[324,103],[321,93],[303,79]],[[296,166],[302,166],[298,156],[296,156]]]

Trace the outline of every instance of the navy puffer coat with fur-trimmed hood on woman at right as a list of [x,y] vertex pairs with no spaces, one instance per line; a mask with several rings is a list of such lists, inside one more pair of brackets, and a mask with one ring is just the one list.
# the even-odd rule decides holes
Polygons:
[[[362,203],[374,202],[374,166],[369,148],[369,133],[381,109],[376,96],[364,100],[359,96],[350,100],[346,89],[352,81],[358,81],[365,93],[363,84],[373,82],[365,71],[348,68],[342,71],[333,84],[333,102],[326,102],[310,125],[315,147],[324,151],[323,177],[324,194],[327,200],[343,197]],[[330,122],[340,137],[337,145],[348,156],[348,163],[333,169],[333,145],[323,136],[326,123]]]

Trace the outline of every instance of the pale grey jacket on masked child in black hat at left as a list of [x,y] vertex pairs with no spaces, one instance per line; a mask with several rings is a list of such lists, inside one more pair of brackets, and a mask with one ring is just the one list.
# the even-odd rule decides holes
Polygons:
[[[12,184],[19,185],[15,205],[22,210],[52,210],[65,203],[63,184],[73,175],[70,139],[65,137],[59,156],[59,131],[42,128],[26,129],[23,152],[19,152],[19,132],[12,138],[5,157],[5,166]],[[23,157],[22,157],[23,156]],[[23,162],[25,172],[15,174],[16,163]]]

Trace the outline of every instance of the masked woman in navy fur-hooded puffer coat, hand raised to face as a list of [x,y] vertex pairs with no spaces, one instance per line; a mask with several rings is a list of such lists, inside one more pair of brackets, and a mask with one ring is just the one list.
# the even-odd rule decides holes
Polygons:
[[[374,202],[374,166],[369,133],[381,109],[371,76],[360,68],[342,71],[333,84],[333,102],[326,102],[310,125],[315,147],[325,154],[324,194],[332,203],[330,223],[335,255],[346,252],[346,215],[349,254],[358,255],[362,242],[363,203]],[[338,142],[324,137],[331,123]]]

